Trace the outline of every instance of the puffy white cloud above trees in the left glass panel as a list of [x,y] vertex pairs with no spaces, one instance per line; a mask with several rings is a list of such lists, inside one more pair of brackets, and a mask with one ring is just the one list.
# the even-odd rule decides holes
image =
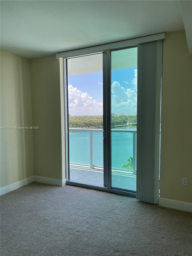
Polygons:
[[68,108],[71,116],[103,115],[103,103],[97,102],[87,92],[71,84],[68,86]]

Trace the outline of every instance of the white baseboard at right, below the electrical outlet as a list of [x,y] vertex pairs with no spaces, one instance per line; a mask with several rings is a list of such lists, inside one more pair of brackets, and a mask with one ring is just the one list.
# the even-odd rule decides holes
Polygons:
[[164,206],[164,207],[186,211],[186,212],[192,212],[192,203],[171,200],[171,199],[162,198],[162,197],[159,198],[159,206]]

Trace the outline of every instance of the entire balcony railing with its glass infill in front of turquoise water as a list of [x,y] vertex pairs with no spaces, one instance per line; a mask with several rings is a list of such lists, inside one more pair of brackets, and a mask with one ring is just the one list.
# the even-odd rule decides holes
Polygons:
[[[137,130],[111,130],[112,171],[136,174]],[[122,168],[133,158],[132,167]],[[70,167],[103,169],[103,129],[69,128]]]

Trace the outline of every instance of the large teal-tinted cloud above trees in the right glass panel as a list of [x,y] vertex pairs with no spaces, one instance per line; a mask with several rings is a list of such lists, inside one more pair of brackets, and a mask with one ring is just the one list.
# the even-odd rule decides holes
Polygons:
[[137,93],[134,90],[125,90],[119,82],[114,81],[111,86],[111,93],[111,113],[137,113]]

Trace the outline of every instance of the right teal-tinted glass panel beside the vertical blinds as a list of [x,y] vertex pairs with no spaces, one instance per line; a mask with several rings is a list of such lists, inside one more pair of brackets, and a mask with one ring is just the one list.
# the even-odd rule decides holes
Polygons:
[[136,191],[137,47],[111,51],[111,186]]

